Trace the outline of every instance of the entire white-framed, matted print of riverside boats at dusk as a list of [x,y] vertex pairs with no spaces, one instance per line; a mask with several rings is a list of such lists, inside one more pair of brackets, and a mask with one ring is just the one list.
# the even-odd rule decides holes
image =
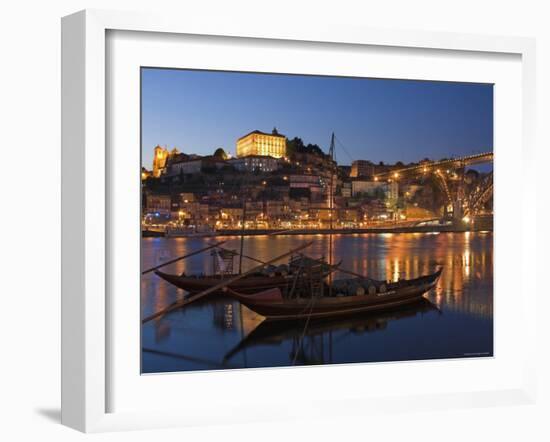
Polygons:
[[533,57],[64,18],[63,422],[531,401]]

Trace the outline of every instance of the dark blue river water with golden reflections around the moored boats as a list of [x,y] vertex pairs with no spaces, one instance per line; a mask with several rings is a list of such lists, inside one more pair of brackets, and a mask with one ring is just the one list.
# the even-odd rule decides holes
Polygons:
[[[238,237],[224,247],[239,249]],[[306,241],[313,257],[329,257],[326,235],[249,236],[244,253],[262,260]],[[142,268],[212,243],[208,238],[144,238]],[[263,318],[225,298],[198,301],[142,328],[142,372],[404,361],[493,355],[492,233],[334,235],[332,262],[376,279],[397,280],[444,266],[426,302],[341,320],[262,324]],[[255,263],[244,260],[243,269]],[[208,252],[171,264],[167,273],[210,273]],[[335,275],[335,278],[344,275]],[[185,293],[153,273],[142,276],[141,314]]]

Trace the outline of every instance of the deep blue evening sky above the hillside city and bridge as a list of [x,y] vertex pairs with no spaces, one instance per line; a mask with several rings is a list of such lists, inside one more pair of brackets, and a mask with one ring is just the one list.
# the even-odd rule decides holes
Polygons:
[[[339,164],[405,163],[493,149],[493,87],[431,81],[142,69],[142,156],[176,146],[211,154],[276,126]],[[347,151],[347,153],[346,153]],[[349,155],[348,155],[349,154]]]

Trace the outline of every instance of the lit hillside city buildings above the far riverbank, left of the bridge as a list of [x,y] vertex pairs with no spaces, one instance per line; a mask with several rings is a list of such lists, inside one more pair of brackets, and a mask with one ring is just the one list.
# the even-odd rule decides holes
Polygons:
[[433,219],[445,210],[429,180],[375,177],[395,165],[339,166],[319,148],[292,146],[274,129],[236,140],[235,158],[223,149],[199,156],[154,147],[152,170],[142,169],[143,223],[194,231],[243,222],[247,229],[358,228]]

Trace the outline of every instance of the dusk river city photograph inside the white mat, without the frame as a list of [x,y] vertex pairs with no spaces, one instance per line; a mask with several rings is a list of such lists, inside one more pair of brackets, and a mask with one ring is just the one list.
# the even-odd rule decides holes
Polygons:
[[494,84],[140,76],[142,374],[493,357]]

